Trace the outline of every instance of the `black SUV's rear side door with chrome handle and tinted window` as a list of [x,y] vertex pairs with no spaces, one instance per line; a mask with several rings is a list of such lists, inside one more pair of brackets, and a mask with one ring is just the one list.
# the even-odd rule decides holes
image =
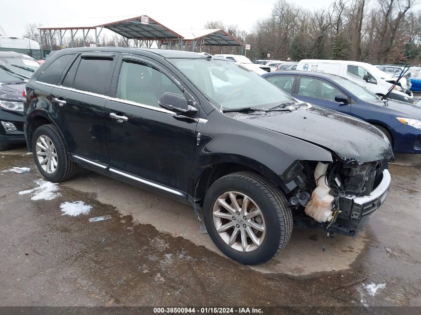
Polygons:
[[104,106],[115,55],[83,53],[53,88],[54,120],[78,162],[106,168],[109,162]]

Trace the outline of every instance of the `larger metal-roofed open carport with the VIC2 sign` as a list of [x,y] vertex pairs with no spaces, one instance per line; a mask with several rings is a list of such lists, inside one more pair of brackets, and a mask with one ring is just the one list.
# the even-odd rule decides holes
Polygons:
[[89,31],[95,31],[95,44],[99,45],[99,36],[101,31],[106,28],[122,35],[125,38],[126,45],[129,46],[129,40],[133,39],[135,46],[145,45],[151,47],[156,42],[160,48],[166,41],[169,48],[172,43],[180,43],[182,46],[183,36],[162,25],[147,15],[140,16],[119,16],[119,17],[96,17],[86,18],[73,22],[56,23],[38,27],[41,36],[49,39],[50,49],[52,50],[52,41],[55,35],[58,36],[60,47],[63,47],[63,37],[67,31],[70,31],[71,46],[74,45],[76,33],[82,30],[83,45],[86,45],[86,37]]

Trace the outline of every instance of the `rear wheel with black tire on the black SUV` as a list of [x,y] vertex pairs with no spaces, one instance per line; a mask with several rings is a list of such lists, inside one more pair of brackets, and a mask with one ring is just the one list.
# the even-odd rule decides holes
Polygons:
[[[42,142],[41,139],[44,140],[44,142]],[[45,143],[52,143],[52,145],[48,148]],[[47,147],[49,150],[44,150],[40,145],[42,145],[42,147]],[[47,181],[59,183],[75,176],[78,166],[70,160],[63,139],[54,125],[42,125],[35,130],[32,136],[32,152],[39,172]],[[40,160],[45,158],[51,158],[50,166],[52,164],[53,167],[48,167],[48,162],[46,162],[46,164],[42,163],[41,165],[41,162],[43,161]],[[53,159],[56,161],[55,167],[52,162]],[[54,170],[52,170],[52,168],[54,168]]]

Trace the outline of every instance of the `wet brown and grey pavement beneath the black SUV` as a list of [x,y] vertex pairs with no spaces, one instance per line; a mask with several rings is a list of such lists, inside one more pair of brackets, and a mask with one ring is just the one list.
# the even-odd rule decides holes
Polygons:
[[[94,172],[19,195],[41,176],[23,148],[0,152],[0,306],[421,306],[421,156],[390,171],[388,199],[355,239],[294,229],[275,259],[248,267],[191,207]],[[63,214],[79,201],[89,213]]]

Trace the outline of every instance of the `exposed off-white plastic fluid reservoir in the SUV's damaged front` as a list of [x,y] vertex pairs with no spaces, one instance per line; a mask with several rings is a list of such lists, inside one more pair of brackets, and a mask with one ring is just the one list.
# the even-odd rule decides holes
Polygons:
[[317,222],[326,222],[332,218],[333,196],[326,184],[327,164],[319,162],[314,170],[316,189],[311,194],[311,200],[305,207],[305,213]]

